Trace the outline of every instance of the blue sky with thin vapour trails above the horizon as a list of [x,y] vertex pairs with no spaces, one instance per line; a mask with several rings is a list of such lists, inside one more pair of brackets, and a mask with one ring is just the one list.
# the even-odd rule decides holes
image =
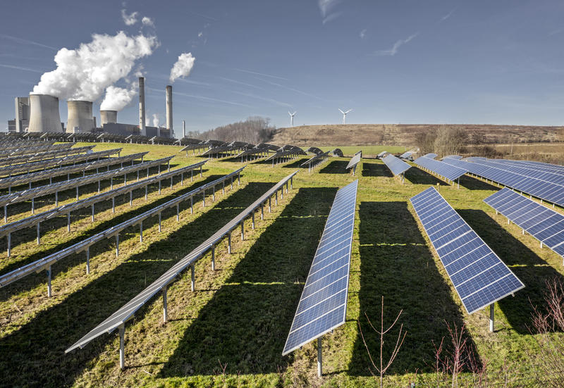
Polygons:
[[[154,28],[125,25],[122,9]],[[563,1],[23,0],[5,1],[2,14],[1,130],[13,97],[56,68],[58,49],[121,30],[159,40],[136,65],[161,123],[173,63],[196,58],[173,84],[176,134],[183,119],[188,130],[250,115],[286,127],[288,110],[295,125],[341,123],[338,108],[353,108],[347,123],[564,121]],[[135,96],[118,121],[137,123],[137,112]]]

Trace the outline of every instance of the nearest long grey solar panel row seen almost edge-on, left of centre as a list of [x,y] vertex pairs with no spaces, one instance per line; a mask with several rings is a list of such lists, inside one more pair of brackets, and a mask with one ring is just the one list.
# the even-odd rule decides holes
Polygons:
[[[241,168],[240,170],[243,170]],[[292,180],[294,175],[296,175],[298,171],[291,173],[287,177],[283,178],[280,182],[271,187],[265,194],[259,197],[257,201],[253,202],[250,206],[245,208],[244,211],[239,213],[235,218],[229,221],[226,225],[221,227],[220,230],[212,234],[206,241],[202,242],[196,249],[192,250],[190,254],[184,256],[178,263],[173,265],[169,270],[167,270],[163,275],[161,275],[157,280],[149,284],[147,288],[145,288],[142,292],[137,294],[133,299],[131,299],[128,303],[125,303],[124,306],[118,309],[115,313],[106,318],[102,323],[94,327],[94,329],[90,330],[84,337],[75,342],[71,347],[66,349],[65,353],[69,351],[73,351],[74,349],[80,347],[84,347],[88,344],[92,339],[99,337],[104,333],[111,333],[120,325],[124,325],[128,320],[133,318],[133,315],[137,310],[139,310],[142,306],[147,303],[153,296],[155,296],[161,289],[164,287],[168,287],[169,284],[174,282],[178,275],[183,272],[186,268],[190,265],[194,264],[196,261],[200,260],[204,254],[212,248],[215,244],[217,244],[223,237],[225,237],[231,230],[237,227],[241,222],[245,220],[251,213],[254,213],[255,210],[261,206],[264,201],[268,200],[274,192],[278,192],[284,184],[286,184],[289,180]]]

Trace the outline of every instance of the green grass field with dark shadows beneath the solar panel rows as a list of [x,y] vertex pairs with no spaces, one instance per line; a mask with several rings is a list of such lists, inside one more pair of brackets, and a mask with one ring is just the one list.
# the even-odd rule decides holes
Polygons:
[[[122,154],[147,150],[154,159],[178,153],[176,146],[97,144],[96,150],[123,147]],[[321,147],[324,150],[336,148]],[[345,154],[362,148],[366,154],[404,147],[339,147]],[[379,339],[369,330],[364,314],[379,323],[380,300],[384,296],[386,322],[402,310],[399,322],[407,337],[395,363],[385,377],[387,387],[436,386],[434,344],[448,336],[446,322],[465,324],[475,353],[487,364],[490,386],[534,386],[536,344],[529,334],[532,305],[542,304],[544,280],[562,278],[562,258],[541,249],[536,239],[507,225],[501,215],[482,201],[498,188],[471,177],[460,179],[460,189],[444,184],[416,167],[401,184],[381,161],[365,160],[357,177],[344,170],[348,158],[330,158],[313,173],[300,170],[294,189],[279,199],[272,213],[257,220],[251,230],[245,225],[245,241],[233,234],[233,254],[226,242],[216,249],[216,270],[209,254],[196,265],[196,291],[190,292],[190,272],[168,290],[168,318],[162,323],[162,302],[155,298],[125,328],[125,370],[118,366],[118,336],[104,335],[72,353],[64,350],[114,313],[124,303],[225,225],[282,177],[298,168],[306,158],[276,165],[249,163],[240,187],[226,189],[190,214],[190,205],[163,214],[162,232],[157,219],[144,223],[144,239],[138,228],[120,236],[120,255],[114,239],[90,249],[91,273],[85,275],[83,253],[63,259],[53,267],[53,292],[47,298],[45,273],[27,277],[0,289],[0,386],[6,387],[376,387],[379,381],[369,372],[369,358],[360,338],[362,326],[367,345],[378,353]],[[178,153],[173,168],[200,161]],[[136,192],[100,207],[90,222],[90,210],[73,214],[71,233],[66,219],[42,225],[42,244],[35,230],[20,234],[13,257],[6,257],[6,242],[0,242],[0,273],[58,251],[65,246],[105,230],[168,199],[188,192],[204,182],[240,168],[241,163],[213,160],[204,165],[204,176],[173,189],[164,183],[157,189]],[[155,173],[153,171],[152,173]],[[324,376],[316,375],[314,343],[281,356],[309,265],[324,229],[338,188],[359,179],[357,218],[350,268],[348,313],[345,325],[323,337]],[[489,311],[467,315],[446,272],[417,221],[409,203],[430,185],[437,187],[467,223],[525,283],[514,297],[496,303],[496,331],[488,330]],[[109,185],[103,187],[109,189]],[[96,186],[97,189],[97,186]],[[90,193],[88,192],[90,190]],[[94,185],[81,191],[93,195]],[[82,197],[81,196],[81,197]],[[73,192],[64,201],[73,201]],[[39,207],[54,206],[54,199]],[[561,209],[559,209],[561,211]],[[30,213],[30,204],[10,210],[10,220]],[[385,344],[385,353],[395,343],[395,331]],[[552,334],[561,336],[562,333]],[[441,383],[440,386],[446,386]],[[448,384],[450,386],[450,384]],[[473,387],[465,373],[460,386]]]

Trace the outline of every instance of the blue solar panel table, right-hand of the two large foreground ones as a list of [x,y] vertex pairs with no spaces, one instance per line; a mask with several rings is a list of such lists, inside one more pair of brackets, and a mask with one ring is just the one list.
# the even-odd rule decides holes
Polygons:
[[525,287],[434,187],[410,201],[467,313]]

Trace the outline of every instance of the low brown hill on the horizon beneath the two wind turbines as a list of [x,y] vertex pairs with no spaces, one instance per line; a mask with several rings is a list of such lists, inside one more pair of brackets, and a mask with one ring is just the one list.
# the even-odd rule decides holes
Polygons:
[[[347,124],[302,125],[276,130],[271,143],[297,146],[331,145],[395,145],[413,146],[417,133],[438,127],[438,124]],[[564,127],[534,125],[453,124],[469,135],[477,134],[487,143],[557,142],[564,139]]]

